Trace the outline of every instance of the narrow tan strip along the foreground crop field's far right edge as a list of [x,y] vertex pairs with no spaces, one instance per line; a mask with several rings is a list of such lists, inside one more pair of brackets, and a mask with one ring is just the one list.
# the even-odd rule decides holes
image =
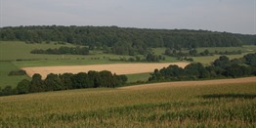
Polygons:
[[146,89],[146,88],[155,89],[155,88],[165,88],[165,87],[173,87],[173,86],[200,86],[200,85],[223,85],[223,84],[242,84],[242,83],[255,83],[256,85],[256,77],[246,77],[246,78],[236,78],[236,79],[217,79],[217,80],[204,80],[204,81],[153,83],[153,84],[121,87],[119,89],[140,90],[140,89]]

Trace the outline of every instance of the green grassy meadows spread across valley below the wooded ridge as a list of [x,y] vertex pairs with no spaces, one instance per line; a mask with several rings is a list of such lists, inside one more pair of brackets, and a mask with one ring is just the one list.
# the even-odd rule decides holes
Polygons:
[[[0,87],[5,87],[11,85],[16,87],[18,82],[21,79],[26,78],[27,76],[8,76],[8,73],[12,70],[20,69],[21,67],[36,67],[36,66],[60,66],[60,65],[88,65],[88,64],[138,64],[138,62],[120,62],[120,61],[109,61],[119,60],[120,58],[129,59],[132,56],[120,56],[112,54],[104,54],[102,51],[90,51],[90,55],[81,56],[81,55],[33,55],[30,54],[30,51],[33,49],[48,49],[48,48],[59,48],[62,46],[66,47],[75,47],[72,44],[58,44],[52,42],[50,44],[41,43],[41,44],[26,44],[21,41],[1,41],[0,42]],[[218,48],[198,48],[197,51],[203,51],[208,49],[210,52],[214,52],[216,49],[218,51],[237,51],[241,50],[241,55],[229,55],[231,59],[240,58],[243,55],[256,51],[256,46],[245,45],[242,47],[218,47]],[[152,52],[156,55],[161,55],[164,53],[165,48],[152,48]],[[176,58],[168,57],[162,55],[165,60],[160,63],[179,63]],[[134,58],[134,57],[132,57]],[[145,58],[142,55],[142,58]],[[210,64],[215,59],[219,58],[219,55],[210,56],[210,57],[194,57],[194,62],[202,64]],[[2,63],[3,62],[3,63]],[[186,62],[185,62],[186,63]],[[150,70],[149,72],[152,72]],[[128,78],[132,80],[128,81],[137,81],[148,79],[149,74],[131,74]]]

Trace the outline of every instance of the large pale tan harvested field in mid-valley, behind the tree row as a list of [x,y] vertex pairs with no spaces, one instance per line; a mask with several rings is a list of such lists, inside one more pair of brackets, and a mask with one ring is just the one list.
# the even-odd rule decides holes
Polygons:
[[189,63],[164,63],[164,64],[91,64],[91,65],[68,65],[68,66],[40,66],[40,67],[23,67],[28,76],[39,73],[42,78],[46,78],[49,73],[78,73],[88,72],[89,70],[109,70],[116,74],[135,74],[152,72],[155,68],[166,67],[170,64],[177,64],[185,67]]

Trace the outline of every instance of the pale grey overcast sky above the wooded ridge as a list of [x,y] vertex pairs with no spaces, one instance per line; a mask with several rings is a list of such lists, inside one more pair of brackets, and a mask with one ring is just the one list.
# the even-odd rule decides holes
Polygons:
[[117,25],[255,34],[255,0],[0,0],[1,26]]

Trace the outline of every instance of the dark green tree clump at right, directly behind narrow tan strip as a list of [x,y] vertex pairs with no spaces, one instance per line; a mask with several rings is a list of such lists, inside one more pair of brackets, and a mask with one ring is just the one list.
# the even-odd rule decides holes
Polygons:
[[185,68],[170,65],[160,70],[155,69],[149,81],[209,79],[220,77],[243,77],[256,75],[256,54],[248,54],[241,59],[230,60],[221,56],[209,66],[200,63],[189,64]]

